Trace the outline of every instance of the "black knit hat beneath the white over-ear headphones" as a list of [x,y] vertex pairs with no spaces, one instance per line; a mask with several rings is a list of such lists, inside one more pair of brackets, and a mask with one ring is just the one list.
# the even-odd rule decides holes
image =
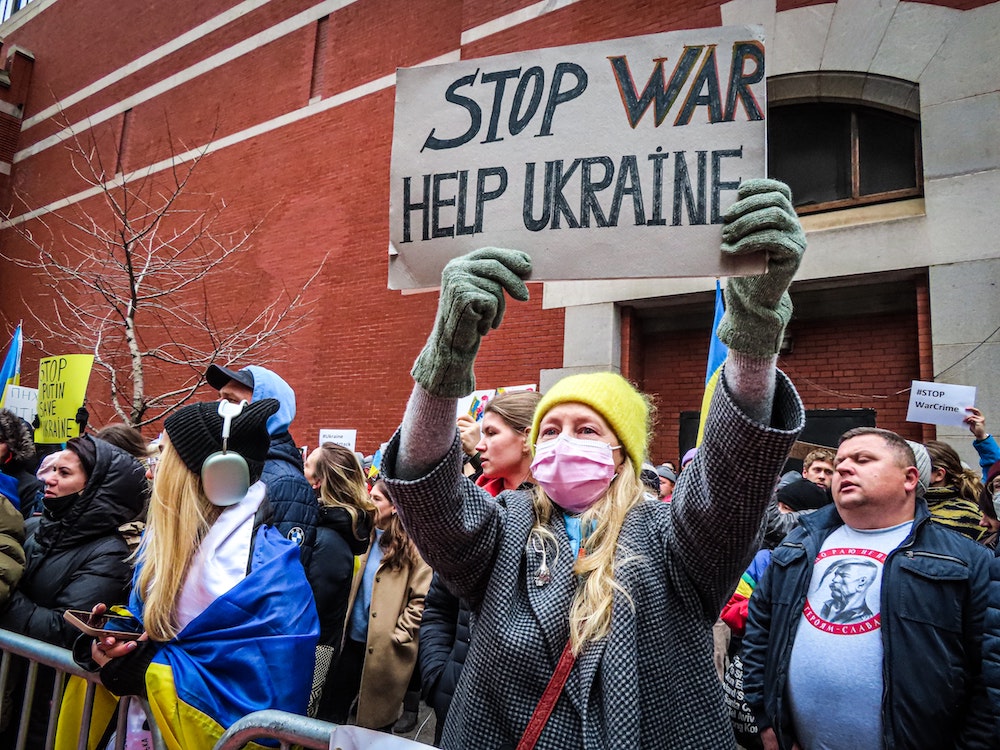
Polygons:
[[[267,418],[279,407],[277,399],[265,398],[247,404],[243,412],[233,418],[228,450],[246,460],[250,469],[250,484],[260,479],[264,471],[267,450],[271,447]],[[205,459],[222,450],[222,422],[219,402],[212,401],[178,409],[163,420],[163,429],[184,465],[195,474],[201,474]]]

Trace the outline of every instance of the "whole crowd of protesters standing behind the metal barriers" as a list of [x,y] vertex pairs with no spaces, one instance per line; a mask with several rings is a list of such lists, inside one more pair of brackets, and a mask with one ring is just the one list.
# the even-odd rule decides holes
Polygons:
[[[0,412],[0,628],[100,675],[94,748],[122,695],[172,748],[265,708],[408,733],[421,695],[448,748],[997,747],[986,417],[966,419],[978,469],[857,428],[782,473],[805,419],[775,366],[805,236],[773,181],[744,183],[724,218],[723,251],[766,250],[768,272],[727,285],[729,357],[679,469],[651,460],[652,403],[612,373],[457,415],[505,296],[528,293],[530,258],[484,249],[446,266],[377,462],[332,443],[303,461],[294,391],[256,365],[212,365],[219,400],[152,442],[84,416],[36,450]],[[66,610],[140,634],[81,633]],[[75,743],[78,688],[57,742]],[[148,733],[138,703],[124,729]]]

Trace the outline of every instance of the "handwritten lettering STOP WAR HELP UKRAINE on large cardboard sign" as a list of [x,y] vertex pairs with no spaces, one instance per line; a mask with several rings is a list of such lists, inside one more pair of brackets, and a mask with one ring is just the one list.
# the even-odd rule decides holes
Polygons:
[[[704,109],[712,124],[732,122],[740,112],[748,121],[764,119],[751,90],[764,77],[763,47],[756,41],[733,44],[724,92],[716,52],[716,45],[685,46],[669,76],[666,58],[654,58],[641,91],[626,57],[609,57],[628,125],[638,127],[651,108],[655,127],[675,109],[674,127],[691,123],[699,109]],[[468,114],[466,130],[451,135],[431,128],[421,151],[458,148],[481,135],[477,143],[482,144],[522,133],[535,138],[551,136],[557,125],[557,109],[582,96],[588,80],[586,70],[571,62],[557,63],[548,80],[540,66],[482,74],[476,70],[453,81],[445,92],[448,103]],[[485,128],[484,107],[475,94],[492,95],[486,102],[489,114]],[[509,112],[506,119],[502,116],[505,110]],[[735,190],[739,184],[738,179],[724,179],[723,160],[742,158],[742,146],[690,153],[668,151],[658,147],[648,155],[602,154],[553,159],[541,165],[524,163],[524,226],[536,232],[563,226],[613,227],[618,226],[625,210],[629,214],[626,221],[637,226],[719,223],[720,192]],[[414,241],[415,223],[420,226],[421,240],[481,233],[486,205],[506,193],[509,177],[504,166],[403,177],[403,242]],[[414,214],[418,214],[416,221]]]

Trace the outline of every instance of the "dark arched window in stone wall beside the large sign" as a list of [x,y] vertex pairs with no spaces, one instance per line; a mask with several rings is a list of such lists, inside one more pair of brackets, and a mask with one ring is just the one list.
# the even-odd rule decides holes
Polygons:
[[915,84],[864,73],[768,80],[768,174],[800,214],[923,194]]

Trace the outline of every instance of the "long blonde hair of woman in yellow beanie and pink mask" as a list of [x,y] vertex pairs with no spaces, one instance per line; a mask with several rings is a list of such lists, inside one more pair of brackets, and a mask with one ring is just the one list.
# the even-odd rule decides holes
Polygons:
[[[626,455],[611,482],[607,493],[580,516],[584,529],[593,527],[582,542],[584,555],[573,563],[573,573],[579,576],[579,585],[569,611],[569,633],[573,653],[579,655],[590,641],[598,641],[611,630],[611,612],[615,592],[628,592],[615,578],[615,570],[633,561],[633,557],[618,557],[618,536],[628,512],[642,502],[645,489],[635,472],[635,465]],[[555,505],[541,489],[535,488],[532,498],[535,523],[529,540],[537,538],[542,544],[556,544],[549,529]]]

